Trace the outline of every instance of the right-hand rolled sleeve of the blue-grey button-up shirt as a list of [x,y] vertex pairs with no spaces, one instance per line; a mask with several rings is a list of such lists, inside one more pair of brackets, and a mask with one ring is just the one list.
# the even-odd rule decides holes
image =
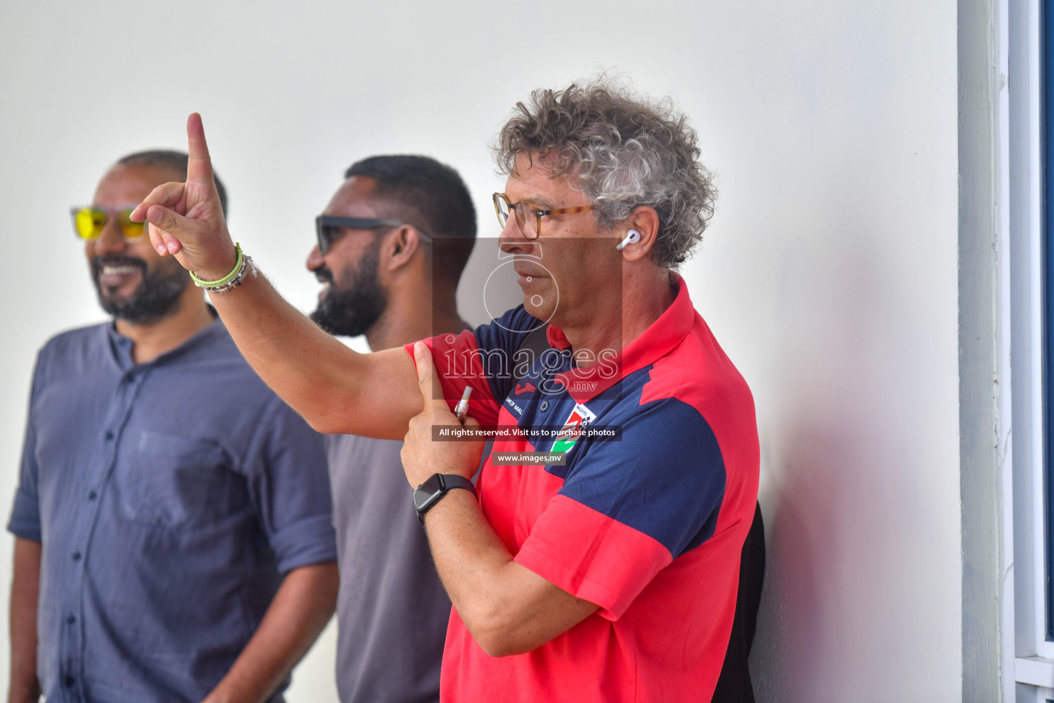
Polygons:
[[321,435],[276,396],[266,406],[242,470],[280,573],[336,561]]

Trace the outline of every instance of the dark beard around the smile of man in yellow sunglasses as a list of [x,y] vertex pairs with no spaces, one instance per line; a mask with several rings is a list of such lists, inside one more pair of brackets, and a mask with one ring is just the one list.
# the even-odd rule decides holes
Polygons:
[[[103,265],[135,266],[142,273],[142,280],[135,292],[126,298],[110,297],[99,282],[99,272]],[[133,256],[96,256],[92,259],[92,282],[99,295],[99,305],[118,319],[136,325],[147,325],[175,312],[179,296],[190,285],[190,276],[181,267],[171,273],[163,268],[148,273],[147,262]]]

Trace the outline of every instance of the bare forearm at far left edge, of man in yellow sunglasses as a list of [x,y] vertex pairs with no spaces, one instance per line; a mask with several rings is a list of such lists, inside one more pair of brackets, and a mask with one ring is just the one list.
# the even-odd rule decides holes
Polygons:
[[11,683],[8,703],[40,700],[37,681],[37,599],[40,543],[16,538],[11,587]]

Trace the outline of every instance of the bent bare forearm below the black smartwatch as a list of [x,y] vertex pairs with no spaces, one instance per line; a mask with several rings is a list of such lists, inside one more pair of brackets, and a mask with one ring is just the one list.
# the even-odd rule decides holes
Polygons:
[[597,610],[515,563],[468,491],[447,493],[425,526],[451,603],[491,656],[530,651]]

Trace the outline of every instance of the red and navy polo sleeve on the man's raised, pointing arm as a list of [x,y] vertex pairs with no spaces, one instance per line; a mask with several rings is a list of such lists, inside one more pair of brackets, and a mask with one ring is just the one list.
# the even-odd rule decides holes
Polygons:
[[[541,323],[520,306],[474,330],[424,339],[432,352],[443,398],[451,412],[465,387],[471,386],[468,414],[483,426],[496,425],[497,412],[512,382],[526,370],[518,368],[518,364],[522,364],[518,350],[526,335],[539,325]],[[406,345],[405,349],[413,358],[413,344]]]

